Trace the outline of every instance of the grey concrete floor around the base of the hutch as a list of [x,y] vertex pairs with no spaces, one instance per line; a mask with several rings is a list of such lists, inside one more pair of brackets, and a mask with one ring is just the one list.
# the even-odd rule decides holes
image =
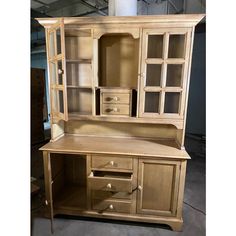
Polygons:
[[[52,235],[50,220],[43,217],[43,168],[41,154],[37,151],[42,144],[32,147],[31,175],[41,187],[32,196],[32,236]],[[182,232],[173,232],[168,226],[126,221],[100,220],[84,217],[58,216],[54,219],[55,236],[204,236],[205,230],[205,144],[201,138],[186,138],[186,149],[191,156],[187,166],[184,195]]]

